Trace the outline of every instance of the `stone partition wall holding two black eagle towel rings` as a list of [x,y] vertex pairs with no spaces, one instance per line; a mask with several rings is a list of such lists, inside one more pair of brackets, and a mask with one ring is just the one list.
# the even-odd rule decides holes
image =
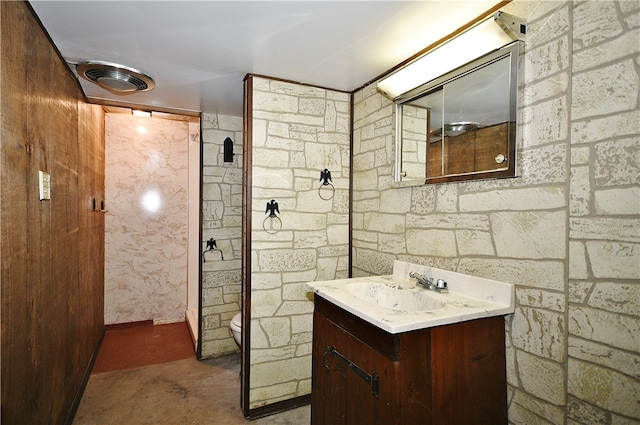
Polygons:
[[[313,303],[305,283],[348,275],[350,97],[251,79],[252,140],[246,148],[251,150],[249,407],[254,409],[310,394]],[[335,192],[319,189],[325,168]],[[271,200],[278,204],[281,228],[265,213]]]

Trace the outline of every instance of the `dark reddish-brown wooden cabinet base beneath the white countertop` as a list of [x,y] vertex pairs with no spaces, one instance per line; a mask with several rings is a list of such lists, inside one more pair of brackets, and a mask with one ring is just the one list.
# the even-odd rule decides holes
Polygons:
[[390,334],[314,303],[312,425],[507,423],[504,317]]

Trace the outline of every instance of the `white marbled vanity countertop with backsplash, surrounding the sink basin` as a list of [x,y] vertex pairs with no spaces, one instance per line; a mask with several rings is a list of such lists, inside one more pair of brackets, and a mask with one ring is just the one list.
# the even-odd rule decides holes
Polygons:
[[[414,271],[447,281],[448,293],[419,288],[439,308],[432,311],[407,311],[383,307],[366,301],[349,289],[353,283],[384,284],[394,290],[416,290],[416,280],[409,277]],[[514,285],[448,270],[395,261],[393,275],[368,276],[351,279],[308,282],[316,296],[349,311],[361,319],[392,334],[459,323],[467,320],[511,314],[515,309]],[[415,294],[414,292],[412,292]],[[382,303],[385,304],[385,303]]]

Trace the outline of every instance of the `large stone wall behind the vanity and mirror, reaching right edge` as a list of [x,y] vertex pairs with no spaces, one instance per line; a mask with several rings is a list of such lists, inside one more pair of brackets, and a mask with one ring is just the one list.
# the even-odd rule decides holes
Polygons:
[[525,2],[518,177],[391,189],[394,120],[354,97],[353,275],[394,259],[516,285],[509,421],[640,421],[640,2]]

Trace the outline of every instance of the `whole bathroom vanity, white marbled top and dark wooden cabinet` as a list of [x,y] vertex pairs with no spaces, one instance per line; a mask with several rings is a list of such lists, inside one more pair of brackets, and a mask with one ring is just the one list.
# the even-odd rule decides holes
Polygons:
[[[417,289],[409,271],[449,283]],[[312,425],[507,423],[513,285],[396,262],[315,293]]]

